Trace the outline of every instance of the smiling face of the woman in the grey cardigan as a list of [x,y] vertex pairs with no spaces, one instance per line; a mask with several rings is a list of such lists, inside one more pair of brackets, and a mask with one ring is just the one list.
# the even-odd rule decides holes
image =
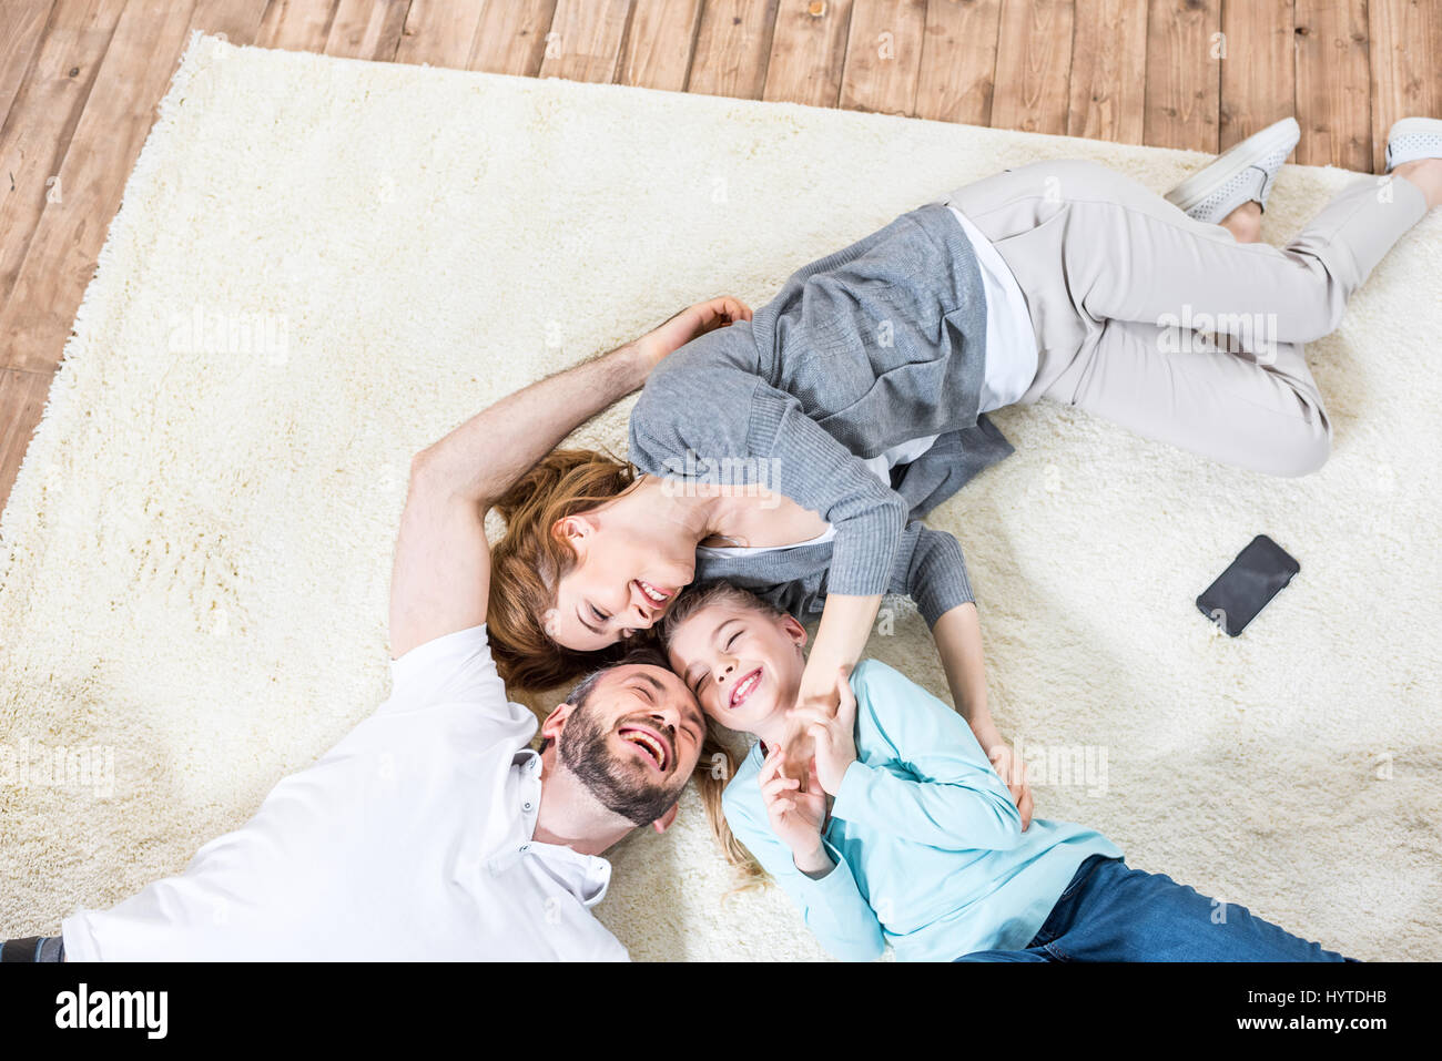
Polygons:
[[557,584],[547,634],[577,652],[596,652],[649,630],[695,577],[695,549],[679,535],[610,519],[607,510],[567,516],[557,533],[575,564]]

